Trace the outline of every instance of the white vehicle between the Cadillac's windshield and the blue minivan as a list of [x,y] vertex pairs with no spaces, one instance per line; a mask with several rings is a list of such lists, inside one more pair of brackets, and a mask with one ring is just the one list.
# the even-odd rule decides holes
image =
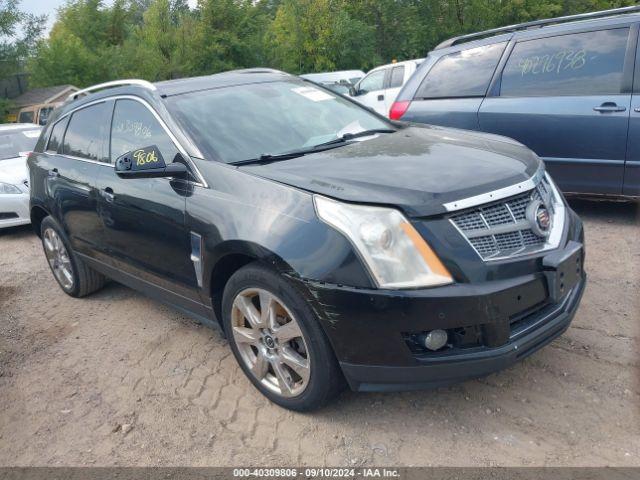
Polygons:
[[388,117],[400,89],[423,60],[418,58],[376,67],[353,87],[349,95],[365,107]]

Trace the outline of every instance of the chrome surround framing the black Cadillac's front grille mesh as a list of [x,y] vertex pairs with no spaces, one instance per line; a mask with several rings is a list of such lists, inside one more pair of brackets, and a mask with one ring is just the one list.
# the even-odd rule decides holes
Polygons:
[[[536,188],[538,186],[538,183],[540,183],[540,181],[542,180],[542,178],[545,178],[547,181],[547,184],[551,189],[551,194],[553,196],[554,216],[553,216],[553,223],[551,225],[551,232],[549,233],[549,237],[547,238],[547,241],[540,248],[526,250],[526,247],[524,247],[518,252],[514,252],[510,255],[484,258],[480,254],[480,252],[478,252],[478,250],[473,246],[473,244],[469,241],[469,238],[467,237],[467,233],[463,232],[458,227],[458,225],[456,225],[456,222],[454,222],[452,218],[449,219],[449,223],[453,225],[453,228],[455,228],[460,235],[462,235],[462,237],[467,241],[469,246],[473,249],[474,252],[476,252],[476,255],[478,255],[480,260],[482,260],[483,262],[489,263],[489,262],[497,262],[497,261],[503,261],[503,260],[520,260],[522,258],[538,255],[548,250],[554,250],[560,246],[562,242],[562,236],[564,234],[565,223],[567,218],[567,212],[566,212],[564,200],[562,199],[562,195],[560,195],[560,190],[558,189],[556,184],[553,182],[549,174],[544,171],[544,169],[541,169],[538,172],[536,172],[536,174],[533,177],[531,177],[531,179],[527,180],[527,182],[531,182],[534,178],[537,178],[537,181],[532,184],[530,190],[533,190],[534,188]],[[527,182],[522,182],[522,183],[519,183],[518,185],[523,185]],[[508,187],[508,188],[511,188],[511,187]],[[497,191],[501,192],[502,190],[505,190],[505,189],[501,189]],[[495,193],[495,192],[490,192],[490,193]],[[508,195],[508,196],[517,195],[519,193],[523,193],[522,190],[518,189],[517,191],[514,191],[511,195]],[[488,194],[484,194],[484,195],[486,196]],[[476,197],[472,197],[472,198],[476,198]],[[500,197],[500,198],[488,197],[488,198],[489,200],[484,203],[493,203],[494,201],[502,200],[505,197]],[[478,204],[470,205],[470,207],[476,207],[476,206],[478,206]],[[468,208],[468,207],[465,207],[465,208]],[[526,252],[524,252],[525,250]]]

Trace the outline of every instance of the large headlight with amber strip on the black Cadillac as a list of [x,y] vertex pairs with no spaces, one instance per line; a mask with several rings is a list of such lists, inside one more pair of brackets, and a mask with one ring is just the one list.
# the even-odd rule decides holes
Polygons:
[[380,288],[453,282],[440,259],[399,211],[314,196],[318,217],[354,245]]

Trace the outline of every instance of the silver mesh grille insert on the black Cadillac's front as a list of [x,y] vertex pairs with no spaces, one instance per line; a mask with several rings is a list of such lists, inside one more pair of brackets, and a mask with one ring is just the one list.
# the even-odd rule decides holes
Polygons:
[[527,192],[487,203],[449,217],[484,260],[541,250],[547,237],[537,235],[527,220],[527,207],[541,200],[554,213],[551,188],[542,179]]

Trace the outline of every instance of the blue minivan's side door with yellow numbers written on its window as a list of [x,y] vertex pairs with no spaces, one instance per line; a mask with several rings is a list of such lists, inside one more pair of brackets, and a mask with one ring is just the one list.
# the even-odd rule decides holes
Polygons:
[[635,38],[630,27],[522,39],[480,108],[480,129],[543,157],[566,192],[620,194]]

